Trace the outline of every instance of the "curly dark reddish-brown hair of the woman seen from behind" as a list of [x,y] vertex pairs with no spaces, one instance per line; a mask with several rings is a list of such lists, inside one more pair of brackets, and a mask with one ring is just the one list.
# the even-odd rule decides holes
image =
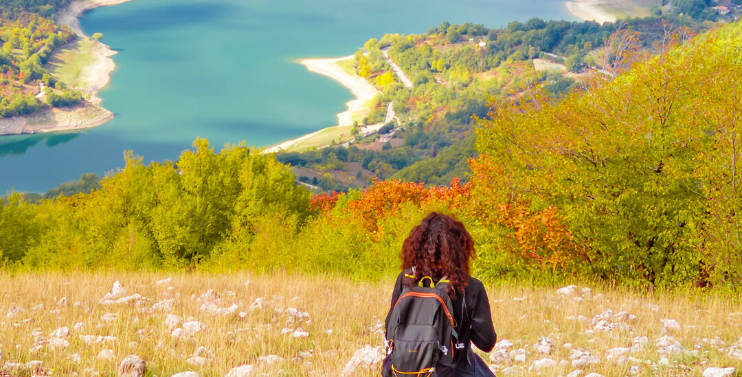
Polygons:
[[448,296],[464,292],[469,282],[469,260],[474,256],[474,241],[461,221],[442,213],[430,213],[414,227],[402,244],[402,268],[414,267],[415,278],[404,278],[411,287],[423,276],[447,276]]

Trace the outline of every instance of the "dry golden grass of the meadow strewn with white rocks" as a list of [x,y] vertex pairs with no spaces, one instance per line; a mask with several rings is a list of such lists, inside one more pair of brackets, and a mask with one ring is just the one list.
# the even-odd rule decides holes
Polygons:
[[[157,284],[165,278],[166,283]],[[120,281],[126,293],[148,300],[128,304],[102,304],[114,281]],[[193,370],[200,376],[225,376],[233,367],[244,364],[256,368],[260,376],[331,376],[343,370],[353,354],[370,344],[383,344],[380,323],[386,315],[393,277],[376,282],[355,282],[337,276],[303,276],[280,273],[260,276],[249,273],[214,275],[200,273],[20,273],[0,275],[0,376],[115,376],[119,364],[135,354],[147,361],[148,376],[172,376]],[[214,291],[214,295],[204,293]],[[729,356],[729,347],[742,336],[742,311],[723,298],[654,297],[618,291],[562,295],[556,289],[530,289],[503,285],[489,287],[495,329],[501,339],[513,342],[510,350],[528,350],[525,362],[500,361],[493,368],[510,367],[515,376],[531,376],[533,361],[552,358],[556,367],[540,370],[542,376],[565,376],[577,369],[571,364],[571,350],[588,350],[597,364],[580,367],[585,373],[603,376],[627,376],[632,365],[640,366],[639,376],[700,376],[706,367],[738,367],[742,361]],[[202,298],[202,295],[204,298]],[[211,298],[207,298],[210,296]],[[580,297],[580,298],[577,298]],[[65,303],[59,303],[66,298]],[[262,307],[249,308],[260,298]],[[157,303],[172,300],[167,310],[153,310]],[[229,308],[223,315],[202,310]],[[18,310],[22,311],[15,315]],[[289,309],[289,311],[286,311]],[[295,309],[293,311],[291,309]],[[633,330],[593,330],[591,319],[604,313],[626,311],[635,320],[613,320]],[[243,312],[240,316],[240,312]],[[116,318],[105,321],[107,313]],[[301,313],[308,313],[303,317]],[[183,321],[200,321],[203,330],[192,336],[174,338],[165,324],[169,314]],[[584,316],[585,320],[577,317]],[[674,319],[680,330],[667,330],[686,352],[667,355],[668,365],[660,365],[657,339],[666,335],[663,319]],[[76,324],[82,323],[82,325]],[[50,333],[68,327],[62,336],[67,347],[52,347]],[[182,324],[179,327],[183,327]],[[294,338],[301,327],[306,337]],[[282,333],[283,329],[291,332]],[[327,330],[332,330],[329,333]],[[288,331],[288,330],[285,330]],[[82,337],[81,337],[82,336]],[[84,336],[93,336],[88,339]],[[97,341],[98,336],[115,339]],[[533,348],[539,338],[551,338],[551,355],[540,355]],[[616,364],[606,351],[631,347],[633,339],[646,336],[649,342],[628,356],[639,361]],[[703,342],[716,338],[720,344]],[[91,341],[87,344],[85,340]],[[59,342],[59,341],[57,341]],[[60,342],[63,343],[63,342]],[[698,348],[695,348],[698,344]],[[723,345],[722,345],[723,344]],[[199,347],[209,352],[201,366],[189,364]],[[100,357],[111,350],[113,358]],[[689,351],[697,351],[694,355]],[[740,351],[742,355],[742,350]],[[261,357],[263,356],[263,357]],[[277,356],[266,358],[264,356]],[[8,363],[42,361],[41,369]],[[562,361],[562,364],[559,362]],[[502,374],[502,373],[499,373]],[[378,376],[378,364],[358,367],[354,376]]]

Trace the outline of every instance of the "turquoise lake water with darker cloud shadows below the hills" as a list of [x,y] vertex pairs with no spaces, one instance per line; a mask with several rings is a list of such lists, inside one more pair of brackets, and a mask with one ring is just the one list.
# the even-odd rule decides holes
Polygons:
[[175,160],[197,137],[215,150],[278,144],[336,123],[352,99],[296,61],[347,56],[385,33],[424,33],[449,21],[503,27],[568,19],[557,0],[134,0],[92,10],[85,33],[118,53],[99,93],[116,118],[90,130],[0,136],[0,193],[42,193],[99,176],[134,150]]

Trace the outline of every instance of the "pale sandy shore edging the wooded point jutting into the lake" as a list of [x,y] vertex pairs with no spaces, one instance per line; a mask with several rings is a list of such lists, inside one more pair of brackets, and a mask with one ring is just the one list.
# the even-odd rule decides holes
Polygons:
[[[342,67],[336,64],[338,63],[338,61],[348,59],[353,59],[353,56],[343,56],[342,58],[331,59],[303,59],[302,61],[299,61],[299,63],[306,66],[307,70],[314,73],[319,73],[321,75],[329,77],[330,79],[338,81],[344,87],[347,87],[350,92],[353,93],[353,96],[355,96],[355,99],[352,99],[346,103],[348,109],[342,113],[338,113],[338,127],[352,126],[353,113],[364,110],[364,106],[366,105],[366,103],[372,100],[378,93],[380,93],[378,90],[376,90],[375,87],[373,87],[372,84],[369,84],[369,82],[365,79],[358,76],[349,75],[345,70],[343,70]],[[321,132],[322,130],[318,130],[313,133],[309,133],[308,135],[301,136],[297,139],[284,141],[281,144],[266,148],[264,152],[273,153],[278,150],[286,149],[293,144],[298,143],[299,141],[309,139]]]

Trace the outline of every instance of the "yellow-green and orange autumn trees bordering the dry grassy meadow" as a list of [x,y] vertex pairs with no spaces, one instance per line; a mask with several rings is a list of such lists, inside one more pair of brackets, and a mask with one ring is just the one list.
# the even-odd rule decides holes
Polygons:
[[[740,35],[740,22],[695,37],[678,30],[654,53],[617,50],[617,76],[589,76],[581,91],[557,99],[531,84],[493,101],[474,127],[478,155],[466,184],[387,179],[312,196],[274,155],[229,145],[217,153],[198,139],[177,161],[145,166],[129,153],[90,193],[39,204],[7,196],[0,258],[34,270],[362,278],[398,271],[413,224],[439,210],[473,234],[475,273],[485,280],[738,292]],[[341,153],[326,158],[355,152]]]

